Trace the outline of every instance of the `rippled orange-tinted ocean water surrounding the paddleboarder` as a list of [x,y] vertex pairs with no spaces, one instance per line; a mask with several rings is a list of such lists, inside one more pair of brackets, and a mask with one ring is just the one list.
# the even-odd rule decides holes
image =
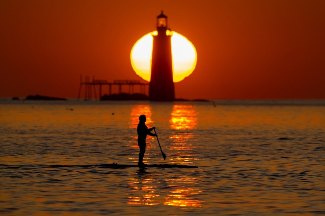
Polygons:
[[[144,162],[137,124],[147,116]],[[69,166],[53,166],[69,165]],[[325,101],[0,101],[2,215],[325,214]]]

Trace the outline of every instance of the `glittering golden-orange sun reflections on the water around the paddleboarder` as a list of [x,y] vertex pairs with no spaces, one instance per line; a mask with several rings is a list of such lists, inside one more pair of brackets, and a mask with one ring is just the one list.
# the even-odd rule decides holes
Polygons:
[[[136,128],[139,123],[139,116],[146,115],[146,125],[151,127],[154,125],[151,119],[150,105],[137,105],[131,112],[130,128]],[[168,163],[186,164],[189,161],[197,160],[193,158],[190,152],[196,148],[189,140],[194,140],[193,133],[190,130],[195,129],[198,124],[197,113],[194,111],[192,105],[179,105],[174,104],[169,119],[170,128],[174,131],[169,136],[170,142]],[[181,131],[181,132],[178,132]],[[186,131],[186,132],[184,132]],[[137,138],[136,136],[134,138]],[[150,142],[150,140],[148,140]],[[133,148],[138,148],[133,145]],[[147,145],[147,150],[154,150],[156,146]],[[137,161],[137,158],[132,158]],[[129,179],[129,186],[133,189],[134,193],[128,196],[129,205],[170,205],[178,207],[201,207],[204,201],[192,198],[194,195],[200,194],[202,191],[194,189],[193,187],[198,184],[198,179],[188,176],[180,176],[178,178],[167,178],[165,183],[157,182],[155,176],[148,175],[145,178],[132,177]],[[166,194],[161,194],[159,185],[166,184],[169,188]]]

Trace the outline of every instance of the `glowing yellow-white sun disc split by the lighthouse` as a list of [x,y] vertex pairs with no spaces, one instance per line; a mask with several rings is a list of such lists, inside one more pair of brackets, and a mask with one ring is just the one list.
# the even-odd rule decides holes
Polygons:
[[[175,31],[167,31],[172,35],[173,81],[182,81],[189,76],[197,64],[197,51],[190,41]],[[136,74],[146,81],[150,81],[150,66],[152,53],[152,31],[144,35],[131,50],[131,63]]]

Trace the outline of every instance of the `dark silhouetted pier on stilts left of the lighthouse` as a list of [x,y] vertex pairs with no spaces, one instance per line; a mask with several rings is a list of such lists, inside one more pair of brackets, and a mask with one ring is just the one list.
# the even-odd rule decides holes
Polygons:
[[[146,94],[146,86],[149,83],[142,83],[139,80],[114,80],[113,82],[108,82],[107,80],[95,80],[95,77],[92,77],[90,80],[89,76],[85,76],[85,80],[83,81],[82,76],[80,76],[80,87],[78,100],[81,96],[82,87],[85,86],[85,100],[90,100],[92,98],[92,92],[94,93],[94,98],[101,98],[103,92],[103,86],[108,86],[108,94],[112,94],[112,86],[118,86],[118,93],[122,93],[122,86],[128,86],[128,93],[134,94],[134,86],[140,86],[140,93]],[[99,97],[97,97],[96,89],[99,90]]]

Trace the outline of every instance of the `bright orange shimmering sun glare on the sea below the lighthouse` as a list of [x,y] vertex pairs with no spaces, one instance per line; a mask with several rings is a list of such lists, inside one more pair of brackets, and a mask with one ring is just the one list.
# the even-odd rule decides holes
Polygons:
[[[137,127],[138,118],[142,114],[147,117],[147,126],[149,127],[149,124],[153,126],[150,105],[137,105],[131,113],[130,128]],[[154,118],[156,122],[161,124],[166,117],[168,116],[157,112]],[[170,119],[167,119],[167,121],[169,121],[169,125],[167,125],[169,129],[165,129],[164,132],[168,132],[169,135],[165,136],[166,138],[164,135],[161,137],[164,151],[166,150],[166,153],[168,153],[166,162],[189,165],[198,160],[193,156],[193,152],[197,151],[198,147],[197,137],[192,132],[198,125],[197,112],[193,105],[174,104]],[[135,136],[135,138],[137,137]],[[134,144],[134,147],[138,148],[136,144]],[[163,174],[160,174],[160,171]],[[200,184],[200,180],[191,175],[194,170],[186,170],[185,173],[177,176],[168,174],[168,171],[159,170],[159,173],[153,174],[146,169],[139,169],[137,174],[128,180],[132,193],[127,196],[127,204],[143,206],[169,205],[180,208],[202,207],[205,201],[198,199],[198,195],[202,191],[196,187],[196,185]]]

